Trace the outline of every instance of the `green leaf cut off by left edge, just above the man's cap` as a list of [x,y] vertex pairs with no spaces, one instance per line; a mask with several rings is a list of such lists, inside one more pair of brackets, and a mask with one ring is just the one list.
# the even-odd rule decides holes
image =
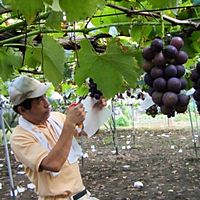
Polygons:
[[7,80],[16,68],[22,63],[21,55],[11,48],[0,49],[0,76],[2,80]]

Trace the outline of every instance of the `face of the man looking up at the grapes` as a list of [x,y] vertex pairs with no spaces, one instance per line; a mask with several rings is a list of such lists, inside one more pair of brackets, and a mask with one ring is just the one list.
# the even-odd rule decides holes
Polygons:
[[45,95],[31,101],[31,109],[25,110],[22,116],[34,124],[44,123],[51,111],[51,106]]

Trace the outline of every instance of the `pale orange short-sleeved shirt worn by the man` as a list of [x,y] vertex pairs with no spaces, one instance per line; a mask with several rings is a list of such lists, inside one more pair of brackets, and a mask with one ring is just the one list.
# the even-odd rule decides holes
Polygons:
[[[64,114],[53,112],[52,115],[57,121],[64,123]],[[40,125],[37,127],[53,147],[56,144],[57,137],[51,125],[47,123],[47,126]],[[69,164],[66,161],[57,176],[52,176],[48,171],[39,172],[40,163],[47,156],[48,150],[40,144],[32,133],[18,125],[11,134],[10,142],[16,159],[23,164],[26,175],[36,186],[39,199],[68,199],[66,196],[76,194],[84,189],[77,162]],[[65,198],[61,198],[62,195]]]

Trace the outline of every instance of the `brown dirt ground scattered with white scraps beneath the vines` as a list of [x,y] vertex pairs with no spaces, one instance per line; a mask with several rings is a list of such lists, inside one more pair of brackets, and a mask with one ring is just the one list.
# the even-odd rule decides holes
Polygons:
[[[86,154],[80,168],[92,195],[100,200],[200,199],[200,151],[190,129],[118,130],[116,135],[116,147],[106,131],[81,140]],[[0,199],[12,200],[3,146],[0,155]],[[13,155],[11,161],[15,186],[24,189],[17,199],[37,199]],[[136,181],[143,188],[134,187]]]

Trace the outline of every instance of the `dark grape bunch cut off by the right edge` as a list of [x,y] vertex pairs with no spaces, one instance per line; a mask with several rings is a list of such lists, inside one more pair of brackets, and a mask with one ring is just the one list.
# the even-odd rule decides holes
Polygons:
[[190,79],[195,89],[192,96],[196,102],[197,111],[200,114],[200,62],[198,62],[196,67],[191,71]]

